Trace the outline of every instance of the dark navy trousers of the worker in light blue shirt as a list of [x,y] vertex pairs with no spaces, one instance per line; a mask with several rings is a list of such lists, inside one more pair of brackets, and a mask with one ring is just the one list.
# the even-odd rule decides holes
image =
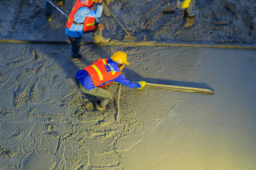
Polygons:
[[[85,33],[89,32],[96,32],[98,30],[98,25],[95,25],[95,28],[90,31],[85,31]],[[79,37],[69,37],[69,40],[71,42],[71,57],[72,58],[79,58],[79,52],[80,52],[80,46],[81,46],[81,40],[82,36]]]

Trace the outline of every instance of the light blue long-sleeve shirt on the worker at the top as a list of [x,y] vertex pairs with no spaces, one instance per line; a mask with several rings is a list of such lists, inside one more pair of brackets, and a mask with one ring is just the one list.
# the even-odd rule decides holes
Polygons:
[[[81,7],[79,8],[79,10],[76,11],[74,21],[76,23],[83,23],[86,17],[94,17],[95,23],[97,24],[97,18],[101,17],[102,9],[102,3],[97,4],[97,10],[90,10],[88,7]],[[82,36],[82,34],[84,33],[84,24],[77,25],[73,23],[69,29],[66,27],[65,32],[69,37],[75,38]]]

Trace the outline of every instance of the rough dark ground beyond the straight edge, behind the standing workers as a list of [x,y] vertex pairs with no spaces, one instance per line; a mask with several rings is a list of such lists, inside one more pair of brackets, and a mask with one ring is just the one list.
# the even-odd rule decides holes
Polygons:
[[[249,0],[209,0],[196,1],[195,25],[189,29],[180,29],[184,20],[181,11],[175,8],[176,1],[170,1],[175,10],[172,14],[163,14],[166,1],[117,1],[110,3],[110,10],[125,26],[137,42],[189,42],[204,44],[255,45],[255,1]],[[52,22],[46,22],[45,1],[1,1],[0,35],[2,39],[29,40],[68,40],[65,35],[67,18],[59,11],[53,11]],[[70,13],[75,1],[66,1],[61,7]],[[102,16],[100,22],[105,25],[103,34],[112,41],[122,41],[126,32],[111,16]],[[92,41],[92,36],[83,37]]]

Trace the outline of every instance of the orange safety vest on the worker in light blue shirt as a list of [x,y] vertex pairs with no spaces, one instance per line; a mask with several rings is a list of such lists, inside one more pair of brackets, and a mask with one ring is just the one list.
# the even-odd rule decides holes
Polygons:
[[67,24],[66,24],[66,27],[68,29],[71,27],[71,25],[73,23],[75,23],[77,25],[84,24],[84,32],[94,29],[94,17],[86,17],[83,23],[76,23],[74,21],[74,17],[75,17],[76,11],[79,10],[79,8],[81,8],[81,7],[88,7],[90,10],[92,10],[94,2],[89,1],[88,5],[89,6],[86,6],[84,3],[81,3],[79,0],[76,1],[76,4],[73,7],[73,9],[72,9],[72,11],[71,11],[71,13],[69,14],[69,17],[68,17],[68,21],[67,21]]

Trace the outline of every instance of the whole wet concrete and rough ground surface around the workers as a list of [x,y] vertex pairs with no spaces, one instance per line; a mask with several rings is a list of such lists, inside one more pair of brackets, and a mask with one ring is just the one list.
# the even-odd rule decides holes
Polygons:
[[[110,42],[84,36],[77,63],[70,44],[47,43],[68,41],[67,19],[53,10],[47,22],[44,3],[0,2],[0,169],[255,169],[254,1],[196,1],[195,25],[181,29],[177,8],[162,14],[166,1],[114,0],[110,10],[137,44],[119,43],[125,31],[102,15]],[[61,8],[69,13],[74,4]],[[110,84],[113,98],[96,111],[97,98],[77,89],[76,71],[119,50],[130,62],[127,79],[215,94]]]

